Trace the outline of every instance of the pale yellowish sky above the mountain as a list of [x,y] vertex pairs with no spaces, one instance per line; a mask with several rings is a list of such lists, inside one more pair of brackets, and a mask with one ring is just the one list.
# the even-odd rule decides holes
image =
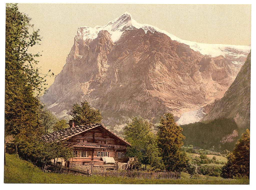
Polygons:
[[[80,26],[106,25],[124,12],[140,24],[166,30],[180,39],[208,44],[251,44],[251,5],[18,4],[40,29],[38,66],[57,75],[66,63]],[[48,84],[54,78],[47,79]]]

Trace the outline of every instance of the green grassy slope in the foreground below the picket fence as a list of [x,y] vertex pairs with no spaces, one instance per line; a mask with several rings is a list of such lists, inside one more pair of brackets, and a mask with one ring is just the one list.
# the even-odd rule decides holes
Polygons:
[[[43,173],[31,162],[20,159],[17,155],[6,154],[4,183],[90,183],[90,184],[249,184],[248,179],[220,181],[217,177],[190,175],[182,172],[182,180],[139,180],[118,177],[76,176],[57,173]],[[222,179],[223,180],[223,179]]]

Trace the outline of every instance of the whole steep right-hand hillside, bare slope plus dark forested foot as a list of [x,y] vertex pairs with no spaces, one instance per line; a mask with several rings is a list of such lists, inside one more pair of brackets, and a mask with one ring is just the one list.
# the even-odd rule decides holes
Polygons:
[[[205,149],[232,151],[241,134],[250,129],[250,78],[251,53],[221,99],[197,111],[182,114],[178,122],[184,122],[186,116],[197,120],[181,125],[186,136],[184,143]],[[196,118],[196,115],[201,118]]]

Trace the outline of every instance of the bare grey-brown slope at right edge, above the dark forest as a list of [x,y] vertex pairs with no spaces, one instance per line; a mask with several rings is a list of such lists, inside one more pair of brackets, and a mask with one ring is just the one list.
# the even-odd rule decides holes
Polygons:
[[251,53],[224,96],[203,108],[206,115],[201,120],[229,118],[234,119],[238,128],[250,129],[250,83]]

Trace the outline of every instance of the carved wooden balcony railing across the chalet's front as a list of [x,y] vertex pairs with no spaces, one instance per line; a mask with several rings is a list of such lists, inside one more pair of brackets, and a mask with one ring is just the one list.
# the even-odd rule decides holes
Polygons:
[[105,148],[105,149],[125,149],[124,145],[118,144],[99,144],[99,143],[86,143],[86,142],[67,142],[73,147],[88,147],[88,148]]

